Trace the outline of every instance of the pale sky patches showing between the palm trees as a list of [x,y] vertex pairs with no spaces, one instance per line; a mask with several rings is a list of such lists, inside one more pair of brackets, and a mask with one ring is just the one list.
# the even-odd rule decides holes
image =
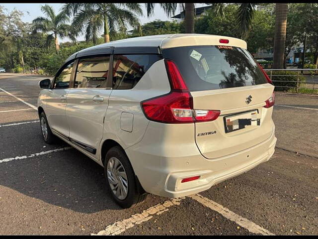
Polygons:
[[[44,5],[45,3],[0,3],[0,5],[3,5],[5,8],[7,8],[9,11],[13,10],[14,8],[16,8],[17,10],[20,10],[24,13],[22,20],[24,22],[31,22],[34,18],[38,17],[38,16],[44,16],[43,13],[41,12],[41,5]],[[60,8],[62,7],[63,3],[49,3],[50,5],[52,5],[55,9],[55,12],[58,12],[60,10]],[[140,21],[142,24],[145,24],[147,22],[153,21],[155,19],[160,19],[162,21],[165,20],[170,20],[166,14],[164,13],[164,11],[160,8],[159,4],[155,5],[155,14],[151,17],[147,17],[147,13],[146,13],[146,8],[145,8],[145,4],[141,3],[142,8],[143,8],[143,12],[144,12],[144,16],[140,17]],[[196,4],[196,7],[198,6],[202,6],[204,4]],[[175,14],[178,14],[180,12],[179,8],[177,8]],[[130,29],[128,29],[130,30]],[[78,40],[84,40],[85,37],[84,35],[81,35],[78,37]],[[65,42],[65,41],[69,41],[68,38],[64,38],[64,39],[60,39],[61,42]]]

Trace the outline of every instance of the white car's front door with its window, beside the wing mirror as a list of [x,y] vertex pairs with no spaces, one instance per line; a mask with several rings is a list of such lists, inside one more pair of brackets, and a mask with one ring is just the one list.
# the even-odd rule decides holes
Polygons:
[[46,98],[45,114],[51,129],[67,137],[70,129],[66,120],[66,97],[72,79],[74,61],[65,64],[53,80],[52,89],[48,90]]

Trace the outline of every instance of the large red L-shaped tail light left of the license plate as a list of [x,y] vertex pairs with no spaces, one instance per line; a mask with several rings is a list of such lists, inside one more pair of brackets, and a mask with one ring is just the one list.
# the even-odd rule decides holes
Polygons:
[[171,92],[141,103],[145,116],[162,123],[192,123],[212,121],[220,111],[194,110],[193,100],[182,76],[171,60],[165,60]]

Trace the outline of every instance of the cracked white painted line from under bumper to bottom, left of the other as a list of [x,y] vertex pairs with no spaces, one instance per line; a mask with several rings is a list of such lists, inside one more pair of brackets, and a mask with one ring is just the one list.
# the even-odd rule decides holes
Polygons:
[[135,214],[133,216],[131,216],[128,219],[124,219],[122,221],[118,221],[112,225],[109,225],[106,227],[105,230],[100,231],[97,234],[91,234],[92,236],[96,236],[96,235],[109,235],[109,236],[113,236],[113,235],[119,235],[122,232],[126,231],[129,228],[134,227],[137,224],[141,224],[143,222],[146,222],[150,219],[153,218],[153,216],[151,215],[160,215],[166,211],[168,211],[168,208],[174,205],[180,205],[180,201],[184,199],[183,198],[174,198],[172,200],[167,200],[163,203],[159,203],[147,210],[144,210],[142,213],[138,213]]

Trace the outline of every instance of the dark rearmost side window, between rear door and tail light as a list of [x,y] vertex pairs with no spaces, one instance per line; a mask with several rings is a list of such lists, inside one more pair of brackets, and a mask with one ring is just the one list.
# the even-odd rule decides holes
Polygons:
[[156,54],[114,55],[113,89],[132,89],[161,57]]

